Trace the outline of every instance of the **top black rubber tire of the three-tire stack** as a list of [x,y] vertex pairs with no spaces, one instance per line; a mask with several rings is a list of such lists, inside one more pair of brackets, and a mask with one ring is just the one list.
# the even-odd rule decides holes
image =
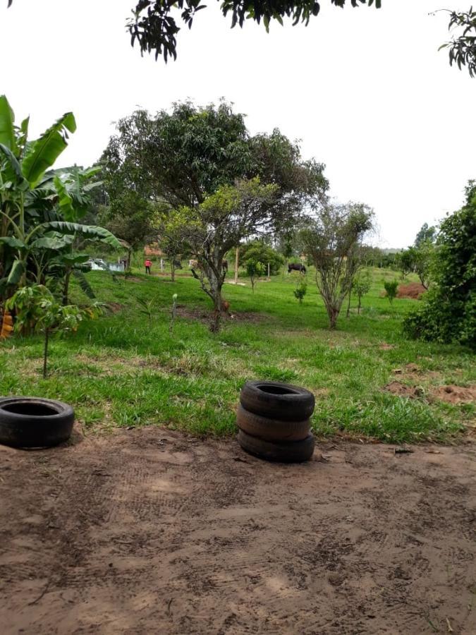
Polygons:
[[279,421],[305,421],[314,412],[312,392],[280,382],[246,382],[240,393],[241,405],[248,412]]

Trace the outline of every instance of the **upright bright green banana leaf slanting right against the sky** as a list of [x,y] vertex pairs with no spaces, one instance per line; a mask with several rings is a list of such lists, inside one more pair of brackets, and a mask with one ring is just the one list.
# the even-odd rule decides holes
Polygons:
[[49,169],[68,143],[68,131],[76,130],[76,121],[72,112],[63,114],[51,128],[42,134],[31,146],[26,149],[22,169],[25,179],[34,188],[41,181],[44,173]]

